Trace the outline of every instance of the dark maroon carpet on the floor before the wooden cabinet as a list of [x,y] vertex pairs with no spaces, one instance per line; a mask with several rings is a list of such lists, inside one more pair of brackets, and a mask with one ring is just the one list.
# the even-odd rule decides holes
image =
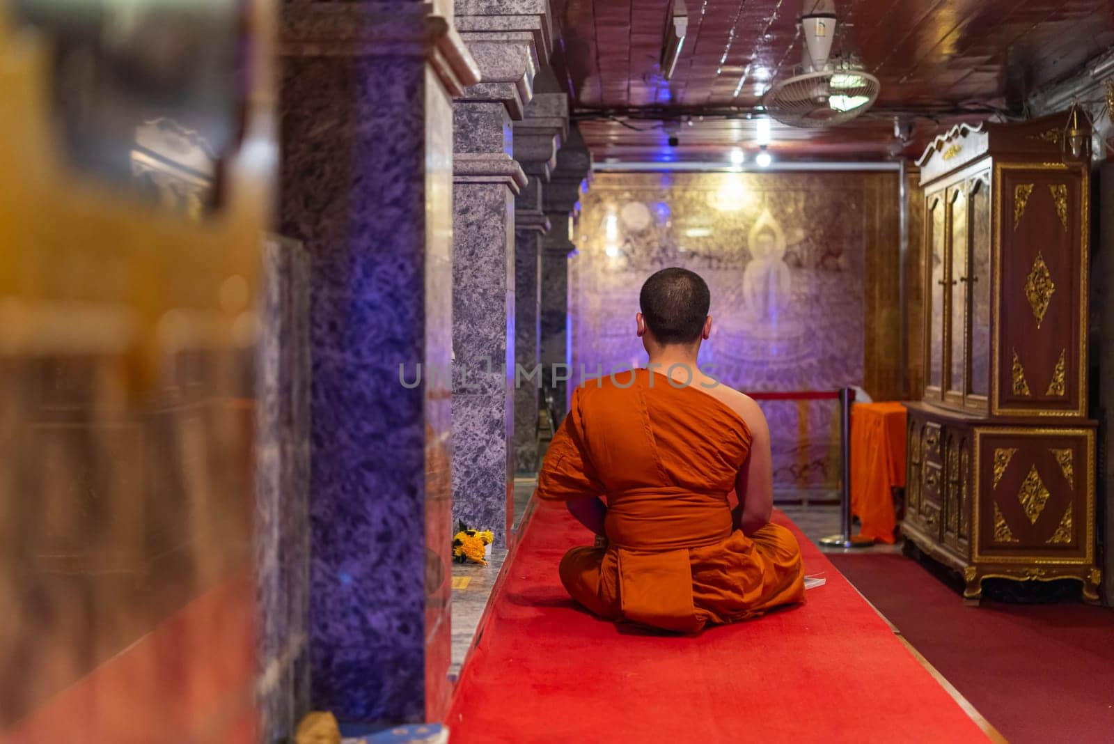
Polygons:
[[1114,613],[1079,604],[965,607],[898,555],[836,565],[1013,744],[1114,741]]

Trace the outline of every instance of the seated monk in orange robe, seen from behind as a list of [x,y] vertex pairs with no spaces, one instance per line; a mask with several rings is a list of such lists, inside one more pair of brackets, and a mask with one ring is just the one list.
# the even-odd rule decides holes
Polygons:
[[691,271],[646,280],[635,322],[649,364],[578,386],[538,476],[538,497],[597,535],[560,579],[608,620],[697,633],[804,599],[800,546],[770,522],[765,417],[696,366],[710,304]]

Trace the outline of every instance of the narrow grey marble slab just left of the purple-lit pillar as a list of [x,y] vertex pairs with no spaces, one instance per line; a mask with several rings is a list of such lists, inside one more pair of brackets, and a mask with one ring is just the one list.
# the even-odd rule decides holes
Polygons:
[[255,567],[260,738],[285,742],[310,709],[310,255],[263,249],[256,374]]

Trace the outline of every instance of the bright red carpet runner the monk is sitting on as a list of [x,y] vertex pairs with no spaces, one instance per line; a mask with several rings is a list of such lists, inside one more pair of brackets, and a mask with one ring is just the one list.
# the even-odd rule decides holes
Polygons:
[[588,533],[538,505],[447,723],[470,742],[979,742],[983,732],[798,535],[827,586],[802,607],[696,637],[577,609],[557,564]]

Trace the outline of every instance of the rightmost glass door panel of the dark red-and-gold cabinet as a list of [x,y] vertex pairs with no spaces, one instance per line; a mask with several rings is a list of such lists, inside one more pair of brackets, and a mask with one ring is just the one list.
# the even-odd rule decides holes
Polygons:
[[970,274],[970,365],[967,374],[967,404],[986,408],[990,390],[990,174],[971,180],[969,190]]

